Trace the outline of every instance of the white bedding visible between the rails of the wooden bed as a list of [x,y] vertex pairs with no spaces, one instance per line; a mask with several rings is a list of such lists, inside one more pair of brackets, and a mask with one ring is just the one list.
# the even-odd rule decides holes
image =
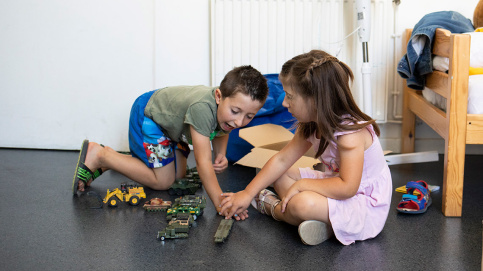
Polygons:
[[[470,67],[483,68],[483,32],[466,33],[471,35]],[[435,56],[433,69],[446,72],[449,59]],[[433,105],[446,111],[446,99],[425,87],[423,96]],[[483,74],[471,75],[468,81],[468,114],[483,114]]]

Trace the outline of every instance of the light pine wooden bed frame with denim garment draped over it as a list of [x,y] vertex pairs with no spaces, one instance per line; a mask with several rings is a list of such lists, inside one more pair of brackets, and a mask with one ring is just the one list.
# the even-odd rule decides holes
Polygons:
[[[403,48],[411,33],[412,29],[406,30]],[[449,58],[449,71],[434,71],[426,77],[426,86],[446,98],[446,112],[424,99],[421,91],[408,88],[404,80],[402,152],[414,152],[416,116],[444,139],[445,216],[461,216],[466,144],[483,144],[483,115],[467,114],[470,39],[470,35],[436,30],[433,54]]]

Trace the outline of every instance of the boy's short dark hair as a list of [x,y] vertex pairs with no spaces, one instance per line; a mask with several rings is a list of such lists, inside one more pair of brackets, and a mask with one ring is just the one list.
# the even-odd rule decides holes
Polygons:
[[229,71],[221,81],[220,90],[223,98],[241,92],[261,103],[268,96],[267,79],[250,65],[235,67]]

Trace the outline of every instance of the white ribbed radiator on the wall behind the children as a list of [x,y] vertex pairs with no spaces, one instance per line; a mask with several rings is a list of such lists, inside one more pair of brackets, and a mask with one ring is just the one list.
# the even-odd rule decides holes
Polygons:
[[[233,67],[252,65],[279,73],[290,58],[322,49],[347,63],[355,75],[353,95],[362,104],[362,45],[353,0],[211,0],[211,84]],[[386,120],[387,56],[392,2],[372,0],[369,61],[373,118]]]

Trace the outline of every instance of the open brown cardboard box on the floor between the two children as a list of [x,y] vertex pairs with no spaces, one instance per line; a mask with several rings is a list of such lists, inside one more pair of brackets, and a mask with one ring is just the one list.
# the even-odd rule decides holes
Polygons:
[[[250,153],[242,157],[235,164],[262,168],[272,156],[279,152],[293,138],[293,134],[283,126],[275,124],[262,124],[240,129],[240,138],[253,145]],[[311,148],[295,164],[296,167],[313,168],[320,163],[314,158],[315,152]]]

